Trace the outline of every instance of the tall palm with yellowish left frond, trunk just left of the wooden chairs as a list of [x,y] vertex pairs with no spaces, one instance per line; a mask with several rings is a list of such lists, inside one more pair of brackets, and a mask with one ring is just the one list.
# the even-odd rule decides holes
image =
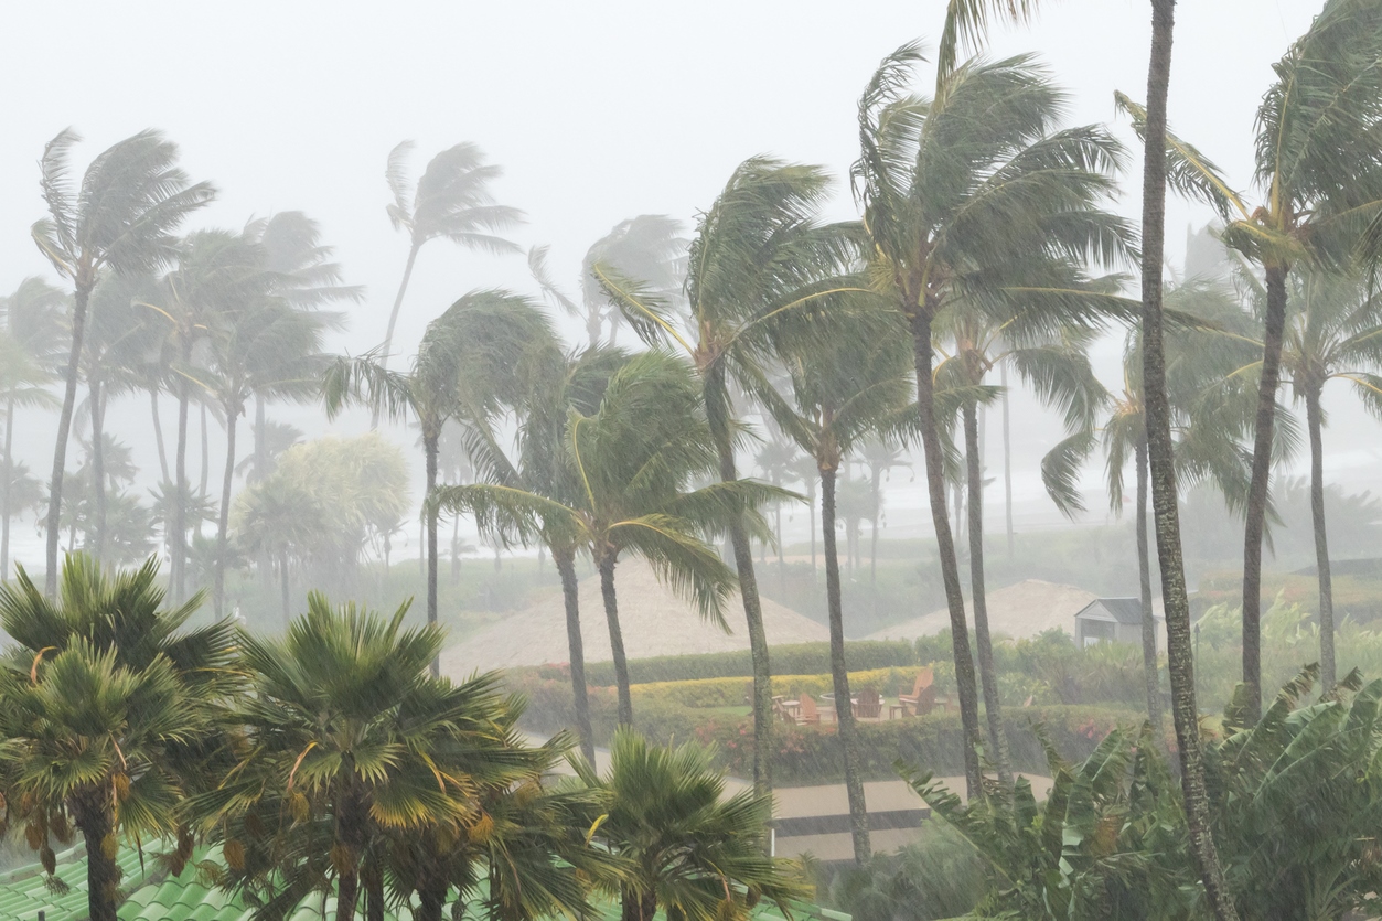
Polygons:
[[[641,279],[591,268],[625,319],[647,342],[684,351],[701,380],[705,412],[724,483],[738,478],[732,389],[752,391],[781,342],[858,283],[843,272],[854,256],[851,230],[821,225],[829,180],[815,166],[752,158],[697,224],[685,296],[688,317]],[[753,784],[773,788],[773,683],[749,528],[732,524],[730,543],[753,655]]]

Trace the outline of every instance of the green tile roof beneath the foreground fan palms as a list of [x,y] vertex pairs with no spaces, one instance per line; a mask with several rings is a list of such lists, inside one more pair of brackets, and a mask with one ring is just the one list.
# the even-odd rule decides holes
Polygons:
[[[220,863],[220,846],[198,853],[198,860]],[[117,913],[120,921],[252,921],[253,918],[253,909],[246,906],[239,895],[207,885],[191,864],[181,877],[166,875],[149,855],[145,855],[141,867],[140,852],[134,848],[120,848],[117,863],[124,873],[123,886],[129,893]],[[36,921],[39,911],[44,911],[47,921],[83,921],[87,917],[84,848],[58,853],[57,877],[68,886],[61,895],[48,889],[39,864],[0,874],[0,918]],[[325,907],[325,917],[334,917],[334,896],[326,899]],[[618,921],[619,906],[604,903],[596,907],[601,921]],[[315,895],[305,897],[287,921],[322,921],[322,897]],[[659,911],[658,918],[662,917]],[[390,909],[386,918],[412,921],[412,911],[406,907]],[[793,918],[850,921],[847,914],[814,904],[793,906]],[[753,910],[752,921],[784,921],[784,918],[777,906],[761,903]]]

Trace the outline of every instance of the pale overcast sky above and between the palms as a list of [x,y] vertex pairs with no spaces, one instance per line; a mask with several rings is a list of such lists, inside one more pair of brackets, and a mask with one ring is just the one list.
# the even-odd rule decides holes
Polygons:
[[[1172,124],[1242,188],[1270,65],[1320,6],[1179,4]],[[1045,7],[1030,28],[1001,29],[991,53],[1045,59],[1071,93],[1071,122],[1113,119],[1115,89],[1144,95],[1146,0]],[[690,221],[750,155],[843,176],[855,156],[861,87],[897,46],[918,36],[934,43],[943,8],[941,0],[7,4],[0,288],[50,272],[28,238],[41,214],[44,141],[75,127],[87,138],[75,154],[80,167],[111,142],[158,127],[181,145],[188,173],[220,189],[195,225],[238,228],[287,209],[321,221],[348,281],[368,288],[339,343],[362,351],[383,337],[406,254],[384,214],[384,159],[398,141],[417,141],[415,174],[445,147],[480,144],[504,167],[499,199],[528,214],[515,239],[550,243],[554,272],[574,285],[586,246],[612,224],[638,213]],[[1136,160],[1130,169],[1136,189]],[[853,216],[847,189],[837,191],[831,216]],[[1128,214],[1136,206],[1132,194],[1121,203]],[[1168,250],[1179,263],[1187,223],[1208,214],[1168,210]],[[531,290],[524,260],[430,243],[399,350],[456,296],[492,285]],[[1049,447],[1041,416],[1020,422],[1032,451]],[[26,454],[50,449],[35,438]]]

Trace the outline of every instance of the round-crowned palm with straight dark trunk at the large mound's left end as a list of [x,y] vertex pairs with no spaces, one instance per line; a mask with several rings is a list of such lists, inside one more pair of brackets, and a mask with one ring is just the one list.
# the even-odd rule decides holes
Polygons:
[[[550,319],[528,299],[504,290],[463,296],[427,326],[410,372],[390,371],[387,355],[337,358],[326,371],[328,418],[361,401],[391,419],[416,416],[427,458],[423,514],[427,531],[427,622],[437,622],[437,488],[441,430],[452,418],[485,418],[527,391],[554,342]],[[437,673],[439,664],[433,664]]]

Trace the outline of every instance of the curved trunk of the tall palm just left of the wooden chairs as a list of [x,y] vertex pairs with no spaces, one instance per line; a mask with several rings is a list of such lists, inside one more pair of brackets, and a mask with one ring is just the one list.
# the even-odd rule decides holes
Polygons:
[[[738,473],[734,467],[734,440],[730,426],[730,400],[726,393],[724,366],[716,365],[705,379],[706,420],[720,455],[720,480],[734,483]],[[763,603],[759,599],[759,581],[753,571],[753,549],[749,546],[749,532],[744,517],[737,516],[730,523],[730,546],[734,549],[734,568],[739,577],[739,597],[744,602],[744,620],[749,631],[749,655],[753,661],[753,790],[760,797],[773,792],[773,665],[768,654],[768,636],[763,629]],[[814,537],[811,561],[815,561]]]

